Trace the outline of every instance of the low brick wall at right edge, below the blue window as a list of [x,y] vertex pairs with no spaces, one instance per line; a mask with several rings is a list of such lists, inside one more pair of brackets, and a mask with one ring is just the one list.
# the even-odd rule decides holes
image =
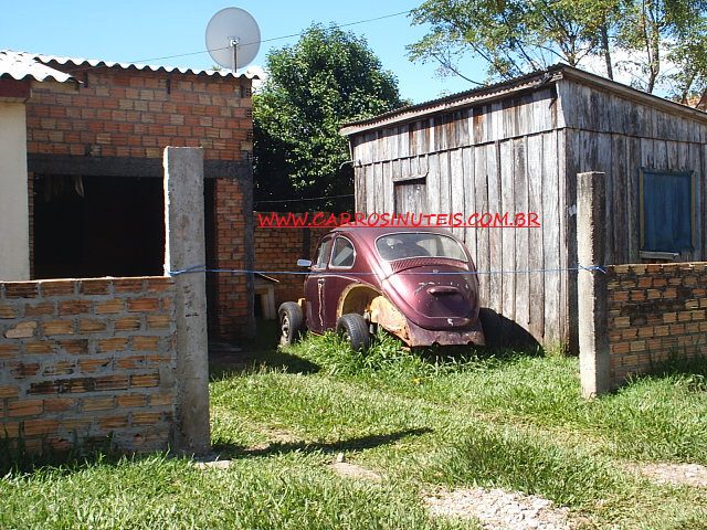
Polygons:
[[608,267],[613,385],[672,356],[707,356],[707,263]]

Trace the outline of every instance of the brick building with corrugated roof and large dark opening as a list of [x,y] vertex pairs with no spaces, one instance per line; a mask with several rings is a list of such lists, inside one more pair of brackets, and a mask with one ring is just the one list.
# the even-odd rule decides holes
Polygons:
[[[167,146],[203,148],[207,265],[252,268],[251,83],[0,52],[0,96],[12,88],[27,124],[29,277],[6,279],[162,274]],[[252,331],[252,282],[212,276],[208,294],[212,337]]]

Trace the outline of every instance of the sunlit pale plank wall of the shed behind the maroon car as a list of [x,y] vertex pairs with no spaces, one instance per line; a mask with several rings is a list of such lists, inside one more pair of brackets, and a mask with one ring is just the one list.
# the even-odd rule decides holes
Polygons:
[[484,305],[544,343],[567,341],[568,279],[558,271],[566,268],[561,118],[555,88],[547,86],[352,139],[358,211],[408,211],[415,201],[401,203],[395,189],[412,193],[412,182],[420,181],[393,179],[420,177],[422,213],[538,214],[540,229],[454,232],[475,256]]

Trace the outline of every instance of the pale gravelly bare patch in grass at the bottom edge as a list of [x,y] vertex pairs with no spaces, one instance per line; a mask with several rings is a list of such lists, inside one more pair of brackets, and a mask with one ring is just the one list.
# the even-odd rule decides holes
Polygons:
[[503,489],[469,488],[439,490],[424,497],[430,513],[441,517],[477,519],[484,529],[571,530],[568,508],[552,501]]

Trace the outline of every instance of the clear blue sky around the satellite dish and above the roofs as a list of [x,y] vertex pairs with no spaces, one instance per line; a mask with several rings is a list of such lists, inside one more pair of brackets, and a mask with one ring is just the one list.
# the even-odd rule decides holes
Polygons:
[[[297,33],[312,22],[349,23],[415,8],[422,0],[358,0],[355,2],[300,0],[120,0],[120,1],[12,1],[0,18],[0,47],[18,51],[145,62],[156,57],[204,50],[204,29],[211,15],[225,7],[239,7],[258,21],[263,40]],[[425,33],[411,26],[405,15],[347,28],[366,36],[383,66],[392,71],[403,97],[415,103],[473,86],[460,78],[440,78],[435,65],[411,63],[405,45]],[[253,62],[262,65],[272,47],[296,42],[296,38],[265,43]],[[208,53],[148,61],[150,64],[209,68]],[[483,81],[483,66],[473,60],[463,73]]]

